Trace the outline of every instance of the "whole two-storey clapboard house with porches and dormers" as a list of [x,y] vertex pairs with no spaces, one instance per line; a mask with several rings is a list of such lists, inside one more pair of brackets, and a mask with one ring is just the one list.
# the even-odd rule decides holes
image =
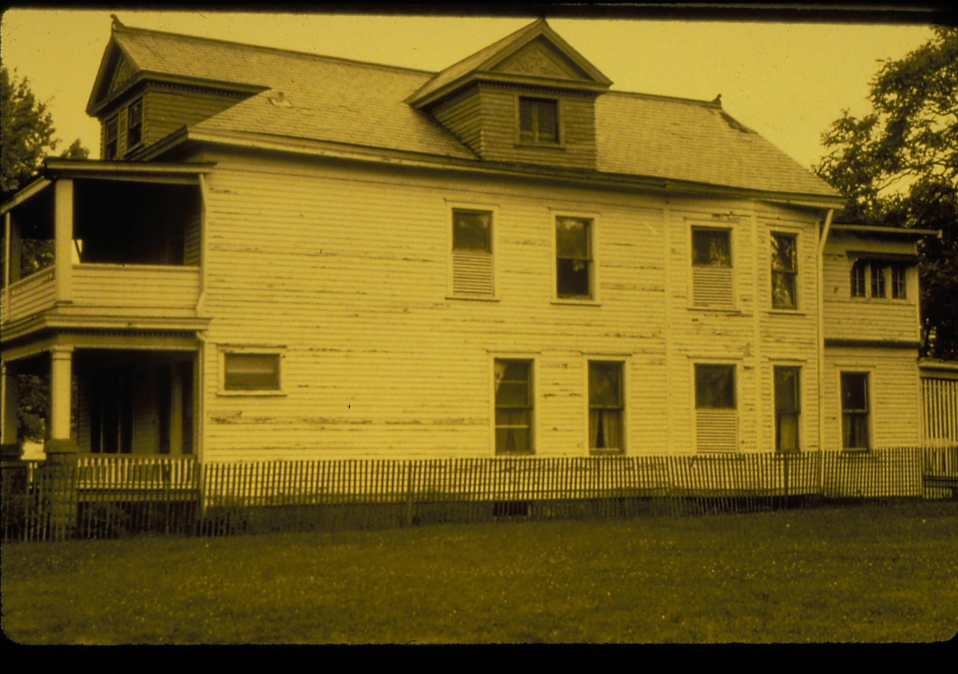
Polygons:
[[836,224],[719,100],[610,85],[543,20],[440,73],[114,25],[103,160],[2,208],[4,443],[32,372],[81,455],[954,441],[935,233]]

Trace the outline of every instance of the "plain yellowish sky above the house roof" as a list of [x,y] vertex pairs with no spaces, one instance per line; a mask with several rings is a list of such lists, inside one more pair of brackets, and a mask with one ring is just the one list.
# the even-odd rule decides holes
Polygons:
[[[127,26],[440,71],[536,17],[358,16],[203,11],[4,12],[0,59],[48,104],[64,149],[100,155],[100,124],[84,109],[110,35]],[[552,28],[611,79],[612,89],[711,101],[810,168],[821,134],[849,109],[870,110],[881,59],[931,36],[922,25],[550,18]]]

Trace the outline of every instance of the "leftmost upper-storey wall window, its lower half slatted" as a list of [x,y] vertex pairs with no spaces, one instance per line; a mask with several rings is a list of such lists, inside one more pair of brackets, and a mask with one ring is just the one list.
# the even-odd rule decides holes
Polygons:
[[492,295],[491,211],[452,211],[452,292]]

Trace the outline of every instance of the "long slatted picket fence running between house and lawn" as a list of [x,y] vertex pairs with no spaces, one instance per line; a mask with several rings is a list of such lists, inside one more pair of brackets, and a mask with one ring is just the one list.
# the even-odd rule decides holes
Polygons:
[[5,540],[691,515],[958,489],[958,447],[800,455],[3,464]]

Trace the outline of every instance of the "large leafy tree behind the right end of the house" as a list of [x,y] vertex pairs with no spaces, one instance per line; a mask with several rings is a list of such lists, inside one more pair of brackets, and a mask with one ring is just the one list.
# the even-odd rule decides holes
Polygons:
[[814,167],[849,197],[838,222],[941,230],[919,243],[923,355],[958,359],[958,28],[901,60],[882,61],[870,82],[873,112],[844,110],[822,134],[834,148]]

